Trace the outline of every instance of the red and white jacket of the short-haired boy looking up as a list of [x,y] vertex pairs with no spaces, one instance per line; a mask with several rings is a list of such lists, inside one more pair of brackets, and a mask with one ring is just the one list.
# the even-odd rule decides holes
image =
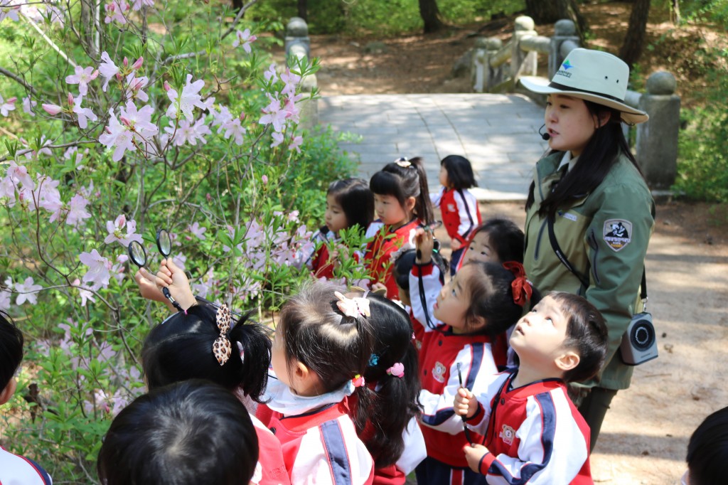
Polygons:
[[593,484],[589,426],[571,403],[566,383],[545,379],[512,389],[516,372],[494,376],[475,393],[478,412],[468,427],[487,433],[488,449],[480,473],[488,484]]

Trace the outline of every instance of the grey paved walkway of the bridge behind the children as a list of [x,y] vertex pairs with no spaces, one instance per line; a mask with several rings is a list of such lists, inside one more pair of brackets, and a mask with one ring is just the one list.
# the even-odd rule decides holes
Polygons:
[[440,159],[467,157],[480,200],[523,200],[547,143],[538,135],[543,108],[523,95],[341,95],[319,100],[319,119],[361,135],[341,148],[360,159],[367,179],[397,157],[424,157],[430,189]]

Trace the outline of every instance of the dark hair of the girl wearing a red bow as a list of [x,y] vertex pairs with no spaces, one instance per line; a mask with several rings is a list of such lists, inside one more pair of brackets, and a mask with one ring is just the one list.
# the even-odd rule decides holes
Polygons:
[[[465,312],[466,323],[481,317],[488,324],[480,333],[496,336],[505,332],[523,315],[523,307],[515,303],[513,298],[513,272],[501,264],[483,261],[468,261],[462,269],[468,267],[473,271],[464,283],[470,293],[470,307]],[[539,292],[532,288],[529,307],[533,307],[540,299]]]

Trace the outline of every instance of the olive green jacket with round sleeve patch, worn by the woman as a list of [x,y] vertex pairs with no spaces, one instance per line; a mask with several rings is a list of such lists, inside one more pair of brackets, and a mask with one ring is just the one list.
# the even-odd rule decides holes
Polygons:
[[523,266],[542,293],[577,293],[599,309],[609,329],[609,351],[601,376],[584,384],[626,389],[633,368],[622,363],[619,347],[639,301],[647,244],[654,229],[654,201],[640,173],[622,156],[593,192],[558,211],[556,240],[571,265],[588,275],[589,286],[583,288],[555,255],[546,219],[537,213],[561,177],[557,168],[562,157],[563,152],[550,154],[534,169],[534,203],[526,211]]

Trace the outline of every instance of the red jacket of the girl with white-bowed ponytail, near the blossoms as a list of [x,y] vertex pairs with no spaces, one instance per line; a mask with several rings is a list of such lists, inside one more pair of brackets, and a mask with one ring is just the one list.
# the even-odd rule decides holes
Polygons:
[[392,253],[410,244],[414,248],[414,232],[420,226],[418,219],[412,219],[395,231],[389,230],[380,220],[369,224],[365,236],[374,239],[366,245],[364,264],[369,272],[371,283],[384,283],[387,286],[387,298],[399,299],[397,282],[392,276]]

